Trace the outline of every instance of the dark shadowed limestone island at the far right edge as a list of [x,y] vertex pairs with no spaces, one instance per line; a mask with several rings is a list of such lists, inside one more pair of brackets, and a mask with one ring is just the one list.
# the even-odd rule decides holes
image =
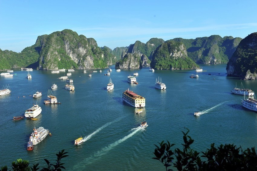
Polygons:
[[257,79],[257,32],[249,34],[239,43],[229,60],[226,70],[229,76]]

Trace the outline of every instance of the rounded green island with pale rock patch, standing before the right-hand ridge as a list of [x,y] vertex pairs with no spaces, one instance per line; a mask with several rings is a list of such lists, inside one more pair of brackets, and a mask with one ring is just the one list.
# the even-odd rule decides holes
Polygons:
[[196,69],[200,68],[187,56],[183,43],[168,41],[157,47],[152,55],[154,69]]

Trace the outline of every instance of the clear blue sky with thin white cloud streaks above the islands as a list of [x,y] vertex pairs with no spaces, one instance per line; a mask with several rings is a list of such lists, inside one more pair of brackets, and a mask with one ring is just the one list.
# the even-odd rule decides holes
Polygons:
[[37,36],[71,29],[99,47],[125,47],[152,37],[195,39],[257,32],[257,3],[227,1],[0,0],[0,49],[21,52]]

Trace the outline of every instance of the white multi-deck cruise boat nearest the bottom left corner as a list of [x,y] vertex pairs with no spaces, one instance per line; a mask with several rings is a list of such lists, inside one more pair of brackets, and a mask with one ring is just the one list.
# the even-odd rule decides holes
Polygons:
[[49,133],[49,130],[44,129],[44,127],[39,127],[37,129],[35,127],[33,130],[34,132],[32,132],[31,136],[29,137],[29,142],[32,142],[33,145],[37,145],[38,143],[40,143]]

